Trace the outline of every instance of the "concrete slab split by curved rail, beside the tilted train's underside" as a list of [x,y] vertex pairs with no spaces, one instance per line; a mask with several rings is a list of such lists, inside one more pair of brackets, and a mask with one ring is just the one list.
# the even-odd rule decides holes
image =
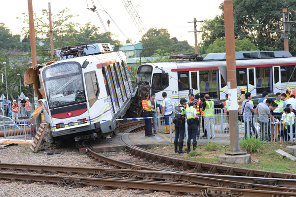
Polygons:
[[170,143],[169,134],[157,132],[157,134],[155,134],[153,137],[145,137],[145,132],[137,132],[125,134],[119,133],[115,136],[111,136],[111,139],[100,139],[96,142],[93,142],[91,145],[96,152],[122,151],[125,149],[125,146],[120,141],[121,136],[123,136],[125,142],[140,146],[142,148],[149,148],[154,145]]

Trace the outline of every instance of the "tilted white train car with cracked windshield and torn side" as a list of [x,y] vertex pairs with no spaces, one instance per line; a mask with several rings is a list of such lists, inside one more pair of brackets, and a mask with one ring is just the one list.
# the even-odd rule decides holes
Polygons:
[[116,121],[101,120],[122,118],[132,103],[124,53],[104,43],[64,47],[57,54],[61,61],[33,66],[25,74],[26,85],[37,77],[49,136],[58,141],[80,135],[77,141],[83,141],[116,133]]

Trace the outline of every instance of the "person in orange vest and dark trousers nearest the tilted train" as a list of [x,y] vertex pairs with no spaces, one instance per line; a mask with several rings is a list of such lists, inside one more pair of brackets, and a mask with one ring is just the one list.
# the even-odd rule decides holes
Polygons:
[[151,117],[152,115],[151,109],[153,108],[153,106],[151,105],[151,102],[149,100],[149,94],[146,92],[144,96],[146,99],[142,100],[142,106],[143,106],[143,117],[145,118],[145,136],[151,137],[155,135],[152,134],[151,118],[147,118],[147,117]]

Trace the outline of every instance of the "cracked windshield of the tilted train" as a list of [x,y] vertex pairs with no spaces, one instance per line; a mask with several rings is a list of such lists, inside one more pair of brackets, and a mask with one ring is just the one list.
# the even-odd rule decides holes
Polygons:
[[49,108],[86,102],[82,70],[78,62],[48,66],[42,72]]

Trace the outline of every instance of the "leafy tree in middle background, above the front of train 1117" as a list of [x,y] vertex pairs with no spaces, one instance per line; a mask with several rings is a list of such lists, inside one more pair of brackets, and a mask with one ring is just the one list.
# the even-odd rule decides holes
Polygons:
[[194,53],[193,47],[186,40],[179,41],[175,37],[172,39],[170,37],[167,29],[150,28],[142,37],[142,56],[151,56],[156,50],[172,51],[173,54]]

